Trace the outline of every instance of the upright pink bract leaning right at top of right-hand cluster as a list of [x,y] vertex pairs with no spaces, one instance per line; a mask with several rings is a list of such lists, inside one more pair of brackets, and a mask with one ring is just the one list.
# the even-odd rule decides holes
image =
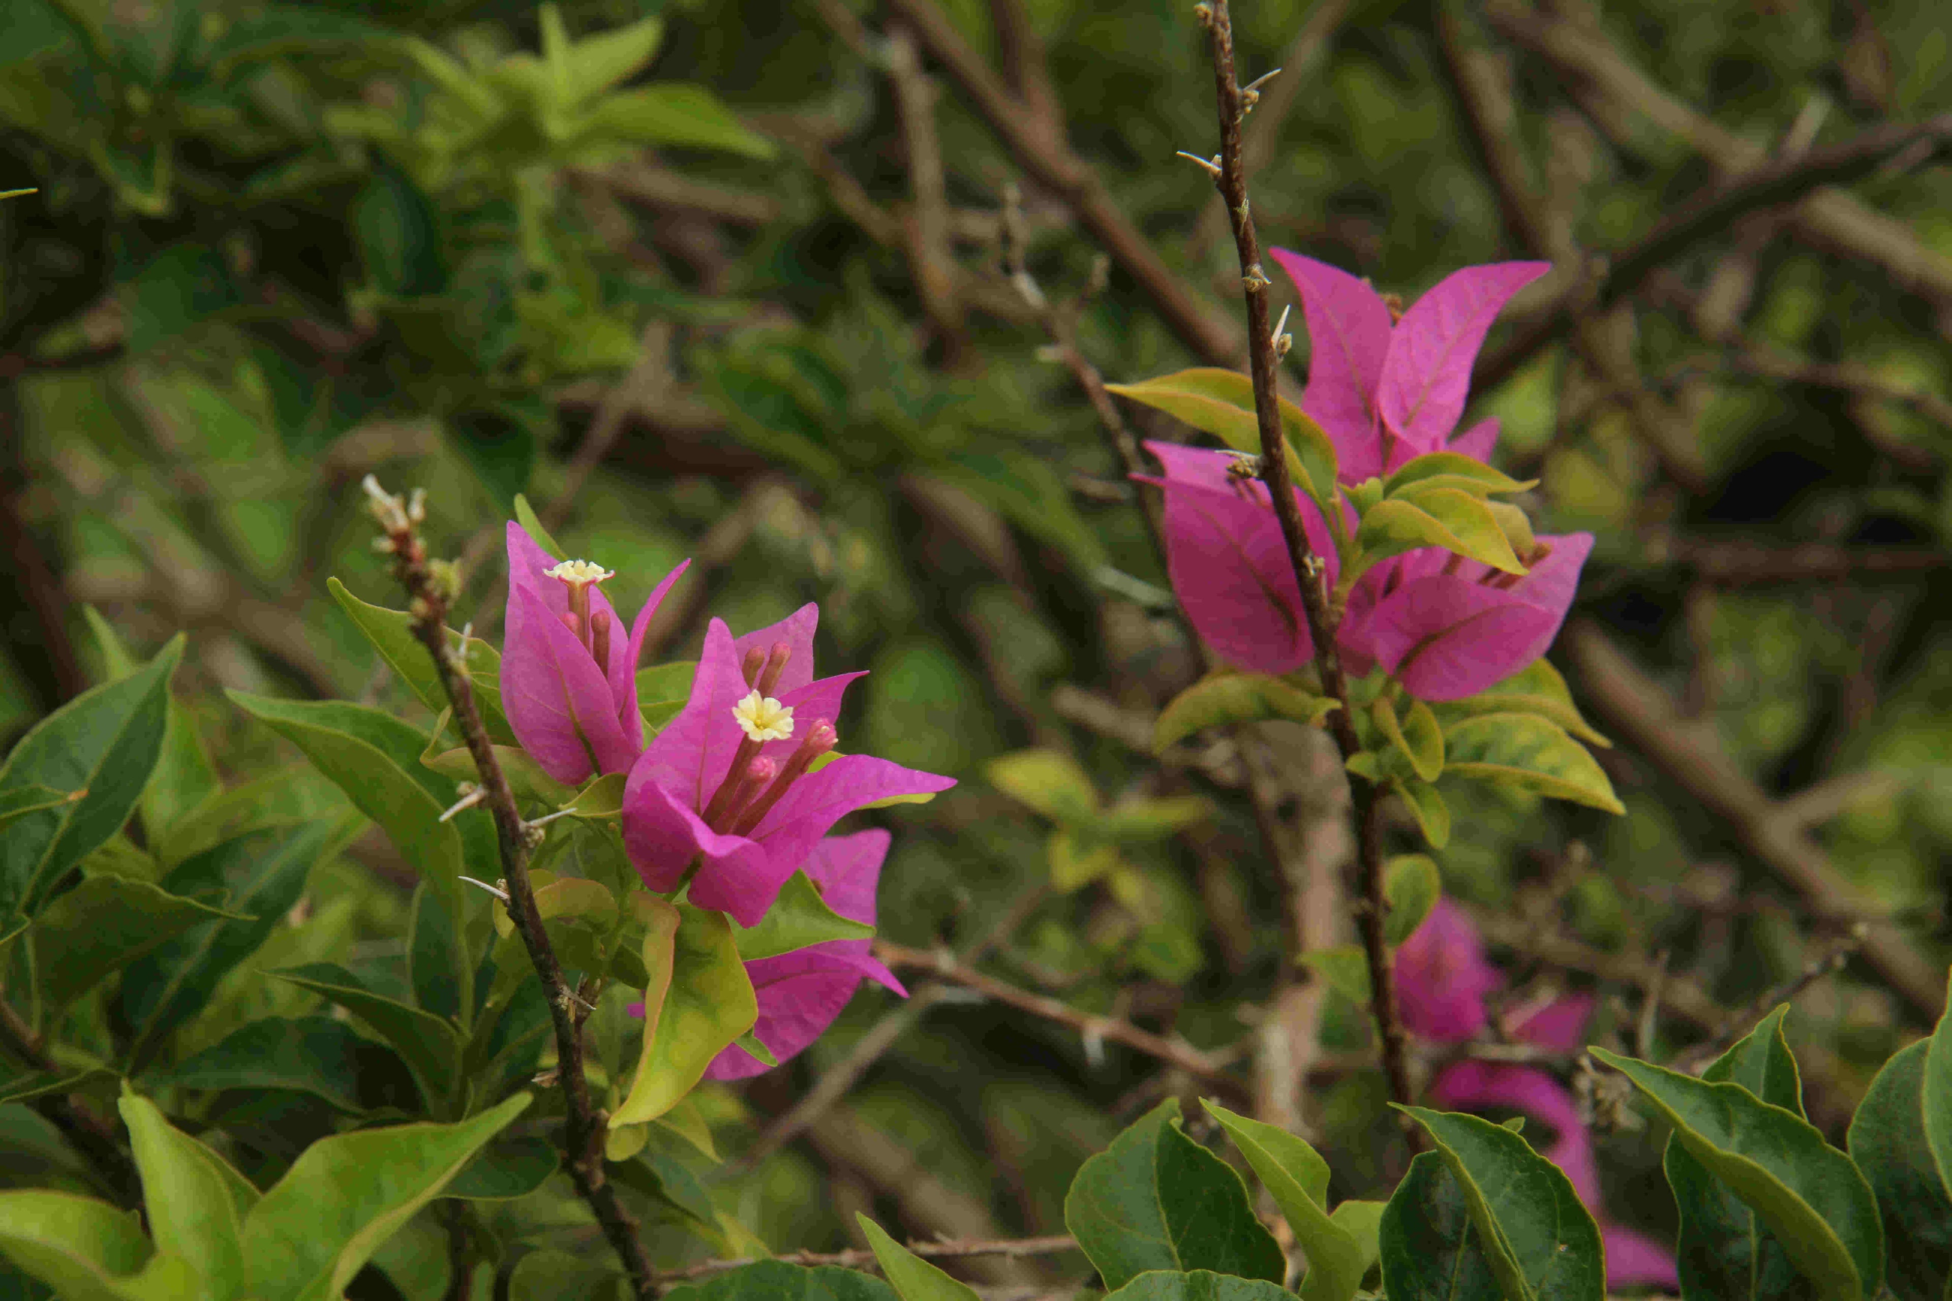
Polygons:
[[1441,449],[1464,414],[1472,361],[1491,322],[1511,295],[1550,269],[1550,261],[1464,267],[1417,298],[1382,359],[1376,412],[1384,429],[1419,454]]

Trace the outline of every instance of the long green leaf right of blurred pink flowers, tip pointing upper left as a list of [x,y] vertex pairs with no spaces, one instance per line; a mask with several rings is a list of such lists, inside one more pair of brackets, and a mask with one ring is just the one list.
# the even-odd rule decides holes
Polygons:
[[1884,1283],[1878,1202],[1849,1157],[1796,1112],[1735,1083],[1698,1081],[1589,1049],[1675,1125],[1675,1139],[1755,1207],[1827,1301],[1866,1301]]

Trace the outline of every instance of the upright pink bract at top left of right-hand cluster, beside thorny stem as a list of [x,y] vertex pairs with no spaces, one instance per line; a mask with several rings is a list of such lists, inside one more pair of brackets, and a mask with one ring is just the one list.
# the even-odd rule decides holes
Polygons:
[[1341,267],[1269,250],[1302,295],[1308,322],[1308,388],[1302,410],[1335,443],[1337,476],[1359,484],[1382,474],[1376,386],[1390,349],[1390,308],[1382,295]]

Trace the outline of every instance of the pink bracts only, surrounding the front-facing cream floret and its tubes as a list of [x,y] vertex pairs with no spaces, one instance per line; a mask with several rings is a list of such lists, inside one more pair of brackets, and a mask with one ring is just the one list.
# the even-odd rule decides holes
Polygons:
[[[814,607],[783,624],[742,638],[746,646],[796,644],[781,675],[781,704],[793,706],[794,735],[767,741],[759,755],[785,769],[818,720],[834,722],[841,696],[861,673],[812,679]],[[779,897],[779,887],[808,862],[828,829],[843,815],[888,796],[933,794],[953,778],[912,772],[884,759],[843,755],[787,788],[744,835],[714,831],[703,811],[732,769],[744,739],[732,708],[750,690],[744,653],[724,620],[711,620],[705,650],[691,679],[691,696],[630,767],[623,798],[623,841],[638,876],[650,889],[670,891],[693,862],[689,899],[699,907],[730,913],[742,926],[755,926]],[[800,673],[793,673],[794,657]],[[787,689],[785,683],[798,679]],[[798,979],[798,977],[794,977]]]

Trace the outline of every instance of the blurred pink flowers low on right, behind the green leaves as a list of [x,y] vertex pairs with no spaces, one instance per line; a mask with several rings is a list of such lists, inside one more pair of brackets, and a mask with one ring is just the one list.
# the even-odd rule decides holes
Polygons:
[[[1478,926],[1450,899],[1439,899],[1417,932],[1396,950],[1396,997],[1403,1026],[1437,1044],[1462,1044],[1478,1034],[1487,1020],[1484,997],[1501,983],[1497,967],[1484,956]],[[1525,1044],[1575,1053],[1591,1014],[1593,995],[1575,993],[1505,1030]],[[1511,1061],[1452,1061],[1431,1081],[1431,1102],[1452,1112],[1509,1108],[1534,1124],[1550,1125],[1556,1137],[1542,1155],[1566,1172],[1573,1192],[1599,1221],[1606,1248],[1606,1285],[1681,1285],[1673,1252],[1647,1235],[1606,1219],[1593,1135],[1579,1120],[1571,1090],[1556,1077]]]

